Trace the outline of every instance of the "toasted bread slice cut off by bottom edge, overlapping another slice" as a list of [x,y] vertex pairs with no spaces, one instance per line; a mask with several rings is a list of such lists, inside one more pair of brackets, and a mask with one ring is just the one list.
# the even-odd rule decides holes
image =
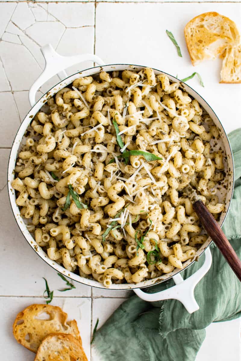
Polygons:
[[53,333],[41,342],[34,361],[87,361],[79,342],[70,334]]

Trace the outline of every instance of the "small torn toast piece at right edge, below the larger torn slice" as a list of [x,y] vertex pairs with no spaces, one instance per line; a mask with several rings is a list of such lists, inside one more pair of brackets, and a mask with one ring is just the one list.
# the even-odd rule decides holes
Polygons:
[[241,45],[225,51],[220,83],[241,83]]

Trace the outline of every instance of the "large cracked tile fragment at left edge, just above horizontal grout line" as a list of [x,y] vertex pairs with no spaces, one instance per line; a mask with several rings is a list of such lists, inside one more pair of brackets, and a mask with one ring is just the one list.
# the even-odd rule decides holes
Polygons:
[[41,71],[31,53],[22,45],[2,41],[0,54],[12,89],[29,89]]

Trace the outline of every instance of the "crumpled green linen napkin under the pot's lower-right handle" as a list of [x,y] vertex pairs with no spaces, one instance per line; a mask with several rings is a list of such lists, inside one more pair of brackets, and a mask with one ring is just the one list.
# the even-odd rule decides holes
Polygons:
[[[235,190],[223,226],[241,258],[241,129],[229,134],[235,163]],[[211,322],[241,316],[241,283],[217,247],[211,248],[212,266],[194,291],[199,310],[189,314],[177,300],[146,302],[136,295],[112,314],[96,332],[94,345],[103,361],[193,361]],[[205,256],[182,272],[185,279],[203,264]],[[171,279],[145,292],[174,285]]]

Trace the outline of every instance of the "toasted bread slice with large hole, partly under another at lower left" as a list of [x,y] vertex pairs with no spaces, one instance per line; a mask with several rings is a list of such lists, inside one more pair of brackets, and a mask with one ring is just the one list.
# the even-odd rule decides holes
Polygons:
[[35,353],[43,338],[53,332],[72,334],[82,345],[77,322],[66,322],[67,317],[60,307],[33,304],[18,313],[13,335],[18,343]]

